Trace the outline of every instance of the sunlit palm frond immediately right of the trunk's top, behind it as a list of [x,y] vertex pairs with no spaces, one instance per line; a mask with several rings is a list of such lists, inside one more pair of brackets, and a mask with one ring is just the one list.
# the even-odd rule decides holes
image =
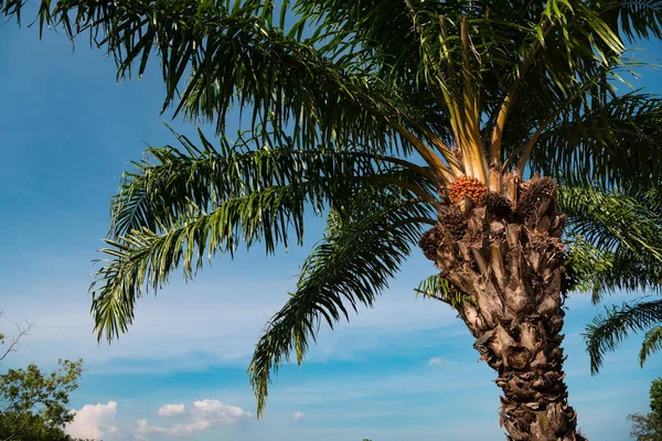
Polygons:
[[616,290],[662,290],[662,198],[658,190],[565,185],[559,209],[567,215],[566,269],[576,288],[597,302]]

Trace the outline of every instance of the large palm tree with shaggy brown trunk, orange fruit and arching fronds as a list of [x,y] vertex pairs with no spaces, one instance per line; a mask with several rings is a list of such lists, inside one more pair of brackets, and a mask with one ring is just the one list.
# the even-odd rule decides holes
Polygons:
[[[20,20],[22,0],[0,9]],[[573,206],[660,182],[662,101],[615,87],[626,43],[662,36],[656,1],[42,0],[38,18],[87,32],[120,78],[157,55],[163,108],[222,135],[175,135],[125,174],[92,288],[99,338],[205,256],[300,244],[311,211],[324,237],[248,368],[258,415],[271,374],[321,322],[372,305],[419,245],[437,272],[419,290],[496,372],[510,439],[585,439],[564,383],[562,235],[600,224],[562,214],[559,189]],[[249,129],[229,141],[233,106]]]

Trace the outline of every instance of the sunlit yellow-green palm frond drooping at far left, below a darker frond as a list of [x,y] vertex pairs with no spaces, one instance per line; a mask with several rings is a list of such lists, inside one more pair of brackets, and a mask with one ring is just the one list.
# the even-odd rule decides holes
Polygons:
[[160,234],[131,229],[117,239],[106,239],[108,248],[100,252],[107,258],[100,260],[104,266],[90,287],[98,338],[110,341],[126,332],[143,290],[157,291],[175,269],[181,267],[189,279],[205,256],[233,254],[241,240],[247,246],[263,240],[267,250],[273,250],[287,243],[290,227],[301,237],[306,193],[293,185],[269,187],[224,201],[210,213],[173,223]]

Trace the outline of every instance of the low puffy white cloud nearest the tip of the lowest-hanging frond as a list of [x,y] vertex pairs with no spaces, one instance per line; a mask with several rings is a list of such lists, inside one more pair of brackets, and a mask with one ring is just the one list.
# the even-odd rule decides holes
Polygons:
[[[175,406],[177,405],[171,405]],[[182,408],[183,405],[179,405]],[[163,409],[167,406],[163,406]],[[179,408],[179,407],[178,407]],[[161,412],[159,409],[159,413]],[[172,437],[192,435],[193,432],[206,430],[216,426],[229,426],[243,421],[252,413],[236,406],[224,405],[218,400],[204,399],[195,401],[193,409],[189,412],[190,420],[171,427],[150,426],[147,420],[138,420],[138,435],[148,433],[162,433]]]

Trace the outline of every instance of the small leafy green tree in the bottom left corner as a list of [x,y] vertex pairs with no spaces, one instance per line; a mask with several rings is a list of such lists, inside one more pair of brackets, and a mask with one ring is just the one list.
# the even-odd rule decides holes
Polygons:
[[34,364],[0,375],[0,437],[21,441],[68,440],[63,427],[74,419],[70,394],[78,387],[83,361],[58,361],[52,373]]

